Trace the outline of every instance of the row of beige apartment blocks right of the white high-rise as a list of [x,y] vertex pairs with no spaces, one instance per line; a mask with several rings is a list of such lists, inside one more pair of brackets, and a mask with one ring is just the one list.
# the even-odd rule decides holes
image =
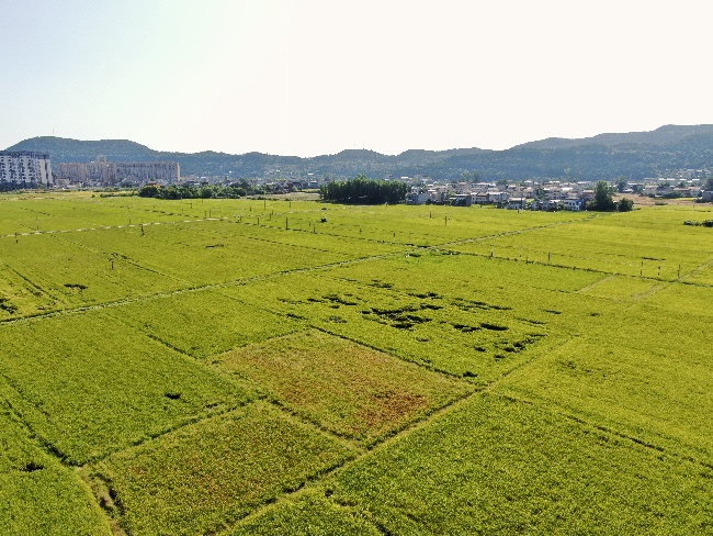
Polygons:
[[90,163],[57,164],[55,176],[59,182],[71,185],[170,185],[180,180],[181,167],[177,161],[107,161],[105,156],[99,156]]

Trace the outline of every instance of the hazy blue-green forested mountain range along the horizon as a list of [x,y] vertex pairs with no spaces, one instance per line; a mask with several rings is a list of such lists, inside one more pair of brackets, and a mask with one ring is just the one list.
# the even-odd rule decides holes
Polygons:
[[33,137],[8,150],[49,153],[53,163],[178,161],[181,175],[254,177],[412,177],[460,179],[477,172],[483,180],[564,178],[599,180],[625,176],[631,180],[667,175],[675,169],[713,169],[713,125],[666,125],[650,132],[598,134],[569,139],[552,137],[506,150],[463,148],[406,150],[382,155],[373,150],[342,150],[301,158],[262,153],[169,153],[126,139],[83,142],[54,136]]

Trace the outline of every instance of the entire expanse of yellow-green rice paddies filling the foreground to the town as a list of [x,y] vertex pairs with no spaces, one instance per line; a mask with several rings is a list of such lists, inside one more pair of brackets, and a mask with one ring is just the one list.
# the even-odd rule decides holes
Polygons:
[[713,534],[713,208],[0,197],[0,534]]

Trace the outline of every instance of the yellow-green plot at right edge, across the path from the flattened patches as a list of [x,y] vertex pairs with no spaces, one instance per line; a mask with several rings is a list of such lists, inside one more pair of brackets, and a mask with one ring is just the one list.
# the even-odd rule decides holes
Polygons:
[[681,316],[646,302],[552,348],[497,390],[606,423],[713,462],[711,313]]

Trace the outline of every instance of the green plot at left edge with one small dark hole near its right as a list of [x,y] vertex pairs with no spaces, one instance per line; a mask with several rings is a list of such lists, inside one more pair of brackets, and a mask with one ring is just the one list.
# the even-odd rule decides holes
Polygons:
[[253,397],[97,312],[2,326],[0,348],[12,405],[72,465]]

